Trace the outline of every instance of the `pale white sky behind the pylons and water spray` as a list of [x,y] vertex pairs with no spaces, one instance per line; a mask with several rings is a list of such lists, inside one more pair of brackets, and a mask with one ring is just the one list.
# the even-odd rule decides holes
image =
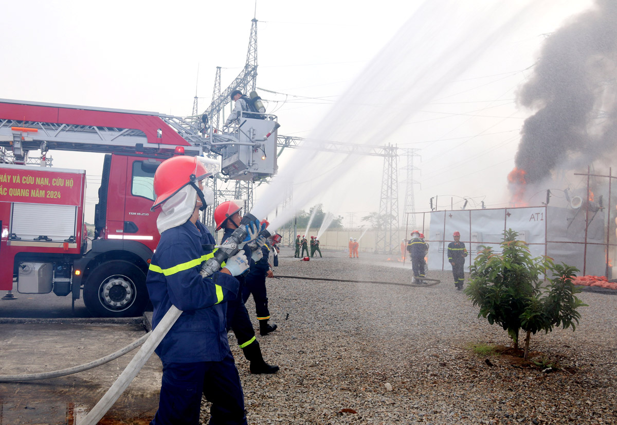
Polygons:
[[[279,133],[308,136],[334,101],[354,88],[355,77],[420,3],[258,1],[257,86],[286,94],[260,93],[270,100],[268,112],[278,116]],[[473,15],[499,1],[461,3]],[[479,208],[482,200],[489,208],[507,206],[506,176],[514,166],[523,120],[532,114],[518,109],[516,90],[531,75],[544,35],[592,2],[535,4],[529,19],[495,41],[420,112],[405,117],[393,135],[370,143],[420,149],[415,158],[415,180],[420,183],[415,185],[416,211],[428,211],[429,198],[434,196],[440,208],[449,208],[451,199],[454,208],[460,208],[463,196],[472,200],[468,208]],[[244,65],[254,13],[254,0],[5,2],[0,25],[0,39],[5,41],[0,98],[188,116],[199,66],[197,96],[203,111],[212,97],[215,68],[223,67],[225,88]],[[478,28],[479,34],[483,30]],[[421,52],[434,38],[455,43],[456,36],[457,28],[436,28],[430,34],[418,33],[409,42]],[[415,60],[421,63],[422,57]],[[286,154],[280,158],[280,167],[285,165]],[[101,156],[66,152],[52,156],[54,166],[87,170],[90,208],[86,213],[93,216]],[[330,203],[324,196],[314,201],[323,201],[326,208],[333,205],[346,224],[349,212],[354,212],[357,225],[359,217],[379,209],[383,160],[367,157],[356,162],[358,167],[350,176],[329,185],[335,193],[346,193],[344,201]],[[400,158],[399,168],[405,165],[405,158]],[[312,167],[298,172],[309,178],[320,170]],[[404,180],[401,170],[401,212]]]

